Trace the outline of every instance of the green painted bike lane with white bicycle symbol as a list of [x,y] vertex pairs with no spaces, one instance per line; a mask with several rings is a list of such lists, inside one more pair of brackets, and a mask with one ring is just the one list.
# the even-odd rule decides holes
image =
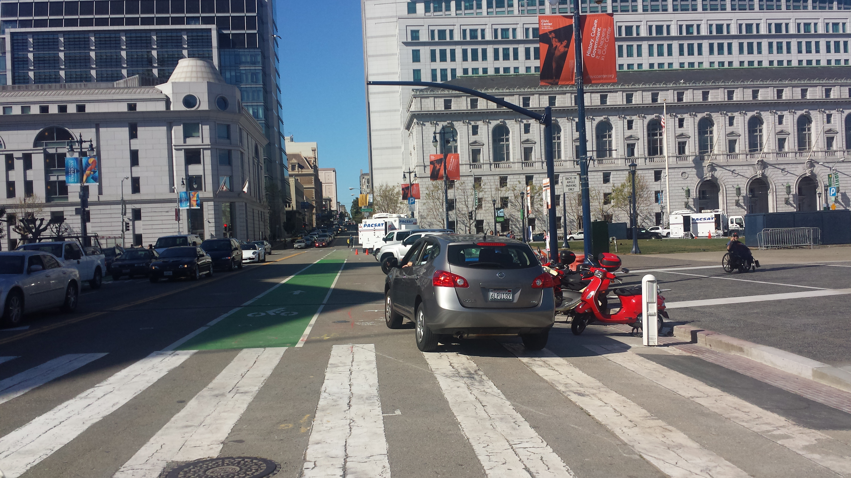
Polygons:
[[347,255],[347,251],[328,253],[181,339],[185,341],[179,341],[174,348],[221,350],[299,346],[300,339],[309,332],[308,327],[327,301]]

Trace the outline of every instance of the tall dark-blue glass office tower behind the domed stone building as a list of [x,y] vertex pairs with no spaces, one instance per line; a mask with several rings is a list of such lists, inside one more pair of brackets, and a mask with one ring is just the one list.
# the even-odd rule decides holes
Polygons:
[[[181,58],[213,61],[264,128],[271,217],[291,201],[281,133],[277,26],[267,0],[0,2],[0,84],[165,83]],[[283,225],[272,219],[273,235]]]

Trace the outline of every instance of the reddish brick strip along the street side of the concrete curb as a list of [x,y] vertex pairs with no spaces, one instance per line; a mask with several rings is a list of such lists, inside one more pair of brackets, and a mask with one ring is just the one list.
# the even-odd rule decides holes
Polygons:
[[[627,325],[610,325],[608,327],[625,333],[630,333],[632,330]],[[677,337],[660,337],[659,343],[663,346],[673,347],[688,353],[688,355],[720,365],[728,370],[756,378],[779,389],[801,395],[809,400],[818,401],[828,407],[842,410],[845,413],[851,413],[851,393],[844,390],[839,390],[830,385],[820,384],[814,380],[802,378],[792,373],[783,372],[774,367],[768,367],[768,365],[763,365],[743,356],[735,356],[733,354],[707,349],[698,344],[683,343],[683,340]]]

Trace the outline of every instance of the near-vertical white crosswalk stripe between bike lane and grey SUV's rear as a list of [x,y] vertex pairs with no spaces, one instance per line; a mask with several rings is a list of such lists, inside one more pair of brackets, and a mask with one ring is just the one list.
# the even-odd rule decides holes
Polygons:
[[375,345],[334,345],[301,476],[390,478],[381,415]]

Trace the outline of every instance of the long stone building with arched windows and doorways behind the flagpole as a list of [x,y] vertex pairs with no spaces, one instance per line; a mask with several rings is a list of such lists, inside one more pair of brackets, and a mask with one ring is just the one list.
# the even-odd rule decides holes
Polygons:
[[[816,211],[819,197],[822,203],[829,201],[831,166],[836,166],[841,183],[851,180],[851,164],[840,162],[851,150],[848,73],[842,66],[619,71],[618,83],[586,86],[587,146],[594,156],[589,167],[591,190],[610,192],[627,179],[628,166],[635,162],[637,175],[655,193],[654,217],[643,218],[643,225],[667,225],[667,147],[674,211],[720,208],[728,215]],[[575,88],[538,83],[538,75],[460,77],[449,82],[535,111],[551,105],[556,173],[578,174]],[[663,102],[667,103],[667,145],[661,128]],[[462,182],[479,182],[483,188],[474,212],[480,219],[477,229],[490,230],[492,199],[505,202],[505,188],[525,189],[530,179],[540,186],[545,178],[544,128],[466,94],[438,88],[414,90],[405,123],[412,145],[403,161],[405,169],[418,168],[427,177],[428,155],[437,152],[431,145],[432,134],[443,125],[458,132],[455,149],[460,153]],[[562,187],[556,186],[557,195]],[[843,191],[836,202],[837,208],[851,204]],[[575,213],[568,211],[567,225],[576,230],[581,227],[576,217],[580,213],[573,209]],[[612,213],[610,219],[628,221],[623,213]],[[466,218],[460,215],[466,212],[457,214],[463,230]],[[512,214],[509,224],[513,226],[503,225],[503,229],[517,231],[519,213]],[[561,228],[560,206],[557,215]],[[539,216],[534,229],[544,230],[545,213]],[[599,213],[592,216],[602,219]]]

